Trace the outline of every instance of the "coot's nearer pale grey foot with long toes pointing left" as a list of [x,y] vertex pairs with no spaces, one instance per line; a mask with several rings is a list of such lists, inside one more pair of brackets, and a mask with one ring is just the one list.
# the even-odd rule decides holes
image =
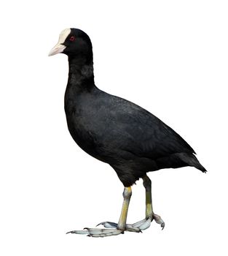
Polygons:
[[105,236],[117,236],[121,233],[124,233],[124,231],[118,230],[117,228],[107,228],[106,229],[106,228],[84,227],[84,230],[73,230],[68,233],[87,235],[87,236],[92,236],[92,237],[105,237]]

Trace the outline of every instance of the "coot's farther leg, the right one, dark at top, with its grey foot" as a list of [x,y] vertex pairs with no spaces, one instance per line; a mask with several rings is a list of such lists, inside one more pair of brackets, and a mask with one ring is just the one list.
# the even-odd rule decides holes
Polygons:
[[[150,227],[152,220],[161,225],[162,229],[165,227],[165,222],[163,222],[162,218],[154,214],[153,206],[152,206],[152,181],[148,176],[143,177],[144,187],[146,189],[146,218],[142,219],[139,222],[135,222],[134,224],[126,224],[125,230],[133,231],[133,232],[141,232],[141,230],[146,230],[146,228]],[[125,203],[125,202],[124,202]],[[101,222],[101,225],[104,227],[117,227],[117,223],[114,222]]]

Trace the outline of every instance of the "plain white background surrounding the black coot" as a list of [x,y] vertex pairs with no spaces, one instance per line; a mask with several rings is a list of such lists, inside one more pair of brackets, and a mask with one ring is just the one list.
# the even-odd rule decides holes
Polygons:
[[[0,254],[227,255],[227,1],[21,0],[0,10]],[[67,58],[47,57],[68,27],[90,35],[96,85],[161,118],[208,169],[149,173],[164,230],[65,234],[117,222],[123,190],[68,133]],[[138,181],[128,223],[143,218]]]

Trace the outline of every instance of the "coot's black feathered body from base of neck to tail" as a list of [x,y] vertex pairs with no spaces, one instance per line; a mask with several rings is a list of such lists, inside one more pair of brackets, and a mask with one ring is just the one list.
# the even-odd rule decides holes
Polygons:
[[88,154],[111,165],[125,187],[162,168],[195,165],[203,170],[194,150],[159,118],[101,91],[91,77],[81,75],[79,80],[83,85],[69,79],[65,94],[71,136]]

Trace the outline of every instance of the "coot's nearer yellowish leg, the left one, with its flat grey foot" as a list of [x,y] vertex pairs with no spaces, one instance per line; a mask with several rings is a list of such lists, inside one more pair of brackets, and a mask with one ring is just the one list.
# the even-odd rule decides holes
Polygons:
[[119,217],[119,222],[101,222],[98,225],[103,225],[104,227],[110,227],[110,228],[89,228],[85,227],[84,230],[73,230],[68,233],[75,233],[75,234],[82,234],[87,236],[93,236],[93,237],[104,237],[104,236],[117,236],[120,233],[124,233],[125,230],[127,231],[133,231],[133,232],[140,232],[138,227],[131,227],[130,225],[126,225],[127,221],[127,211],[128,206],[130,203],[130,197],[131,197],[131,187],[125,187],[125,190],[123,192],[124,201],[122,203],[122,211]]

